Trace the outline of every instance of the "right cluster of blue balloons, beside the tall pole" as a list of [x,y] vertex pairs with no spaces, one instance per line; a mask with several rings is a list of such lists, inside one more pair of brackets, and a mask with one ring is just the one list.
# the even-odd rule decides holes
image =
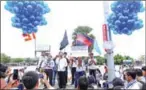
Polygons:
[[107,22],[114,34],[131,35],[134,30],[143,27],[143,20],[138,18],[138,13],[145,11],[142,1],[115,1],[111,10]]

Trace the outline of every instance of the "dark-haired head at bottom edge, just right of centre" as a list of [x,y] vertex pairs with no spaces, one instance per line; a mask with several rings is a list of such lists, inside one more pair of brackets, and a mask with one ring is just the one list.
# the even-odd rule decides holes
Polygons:
[[88,89],[88,79],[86,76],[81,76],[79,78],[79,89],[80,90],[87,90]]

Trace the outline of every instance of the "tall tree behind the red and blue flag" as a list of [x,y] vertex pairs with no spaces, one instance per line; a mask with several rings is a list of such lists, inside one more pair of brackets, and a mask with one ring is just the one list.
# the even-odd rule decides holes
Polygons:
[[[90,34],[91,31],[92,31],[92,28],[89,26],[78,26],[77,28],[75,28],[74,32],[72,34],[73,46],[75,45],[74,44],[74,42],[76,40],[75,35],[77,33],[85,34],[85,35],[89,36],[90,38],[94,39],[95,36],[93,34]],[[88,47],[88,52],[92,52],[92,50],[93,50],[93,44],[90,47]]]

